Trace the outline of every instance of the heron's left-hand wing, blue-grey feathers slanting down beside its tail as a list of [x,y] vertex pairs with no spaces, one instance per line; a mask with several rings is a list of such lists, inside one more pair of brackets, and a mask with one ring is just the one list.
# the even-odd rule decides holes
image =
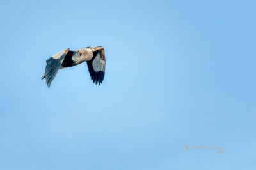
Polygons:
[[52,80],[54,80],[68,52],[69,52],[69,48],[52,55],[50,59],[46,60],[47,65],[45,67],[44,76],[46,79],[47,87],[51,86]]

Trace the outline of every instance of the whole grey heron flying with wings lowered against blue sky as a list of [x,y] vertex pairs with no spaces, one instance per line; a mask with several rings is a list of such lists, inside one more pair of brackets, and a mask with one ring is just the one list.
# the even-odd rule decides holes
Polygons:
[[86,61],[93,83],[100,85],[104,79],[106,59],[102,46],[79,48],[71,51],[69,48],[62,50],[46,60],[45,73],[41,79],[45,78],[47,87],[51,86],[59,69],[76,66]]

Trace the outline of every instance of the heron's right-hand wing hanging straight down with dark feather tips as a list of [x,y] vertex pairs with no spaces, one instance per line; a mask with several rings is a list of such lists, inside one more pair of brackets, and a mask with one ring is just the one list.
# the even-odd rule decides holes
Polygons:
[[104,49],[93,52],[92,60],[87,61],[87,66],[93,83],[102,83],[105,75],[106,59]]

